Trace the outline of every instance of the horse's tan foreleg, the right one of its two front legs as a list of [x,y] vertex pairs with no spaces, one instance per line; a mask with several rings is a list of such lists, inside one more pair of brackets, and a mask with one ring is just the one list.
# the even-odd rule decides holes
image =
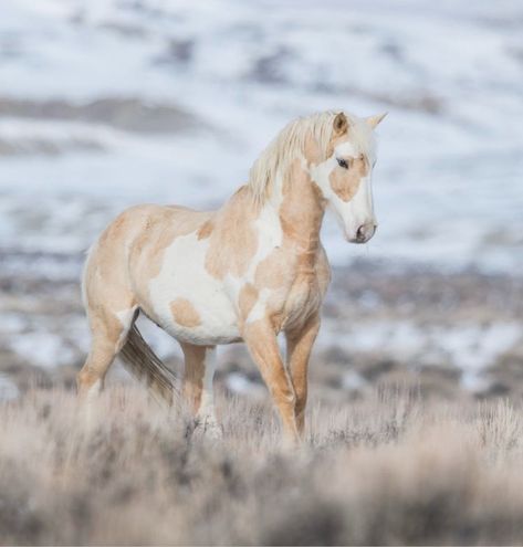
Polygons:
[[285,333],[286,359],[296,393],[295,413],[300,433],[303,433],[305,427],[308,358],[318,330],[320,316],[314,314],[301,329]]

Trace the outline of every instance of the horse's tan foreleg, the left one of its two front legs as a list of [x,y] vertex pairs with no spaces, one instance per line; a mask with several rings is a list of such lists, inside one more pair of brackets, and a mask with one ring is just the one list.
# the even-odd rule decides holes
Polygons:
[[274,329],[265,320],[247,323],[243,327],[243,339],[276,404],[285,435],[296,440],[294,389],[280,356]]

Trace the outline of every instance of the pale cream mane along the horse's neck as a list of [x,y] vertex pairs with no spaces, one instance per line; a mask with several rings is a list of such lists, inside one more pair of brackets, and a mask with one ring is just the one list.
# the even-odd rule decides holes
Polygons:
[[[276,172],[283,172],[296,157],[303,156],[307,137],[313,137],[322,156],[326,158],[336,114],[337,112],[328,111],[297,118],[279,133],[250,170],[248,186],[257,202],[265,200]],[[345,115],[351,123],[351,116]]]

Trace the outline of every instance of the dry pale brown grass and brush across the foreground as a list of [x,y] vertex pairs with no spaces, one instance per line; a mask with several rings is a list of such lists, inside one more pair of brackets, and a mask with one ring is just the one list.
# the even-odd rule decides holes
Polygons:
[[281,445],[265,407],[220,401],[226,435],[187,434],[140,390],[86,423],[74,396],[0,407],[2,544],[521,544],[520,408],[399,392],[311,406]]

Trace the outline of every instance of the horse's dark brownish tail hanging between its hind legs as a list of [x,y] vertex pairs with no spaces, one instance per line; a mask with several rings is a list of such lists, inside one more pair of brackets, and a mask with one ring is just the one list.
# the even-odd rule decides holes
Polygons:
[[177,391],[175,375],[161,362],[133,325],[121,350],[125,368],[146,383],[150,395],[163,406],[170,407]]

